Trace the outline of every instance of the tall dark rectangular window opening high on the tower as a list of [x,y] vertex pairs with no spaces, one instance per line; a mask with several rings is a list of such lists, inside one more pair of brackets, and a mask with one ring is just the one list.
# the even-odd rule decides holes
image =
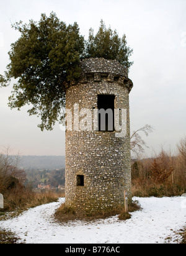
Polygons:
[[97,108],[99,111],[99,131],[113,132],[114,131],[114,95],[98,95]]

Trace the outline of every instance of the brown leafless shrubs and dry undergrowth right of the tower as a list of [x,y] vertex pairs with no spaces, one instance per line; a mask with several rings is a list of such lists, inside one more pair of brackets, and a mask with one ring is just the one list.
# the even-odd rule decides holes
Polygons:
[[179,152],[161,151],[153,158],[132,163],[133,196],[181,196],[186,191],[186,139],[179,144]]

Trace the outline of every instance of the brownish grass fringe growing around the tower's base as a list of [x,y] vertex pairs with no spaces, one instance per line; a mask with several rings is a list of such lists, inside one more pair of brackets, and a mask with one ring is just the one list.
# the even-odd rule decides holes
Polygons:
[[[137,201],[131,203],[129,206],[130,213],[138,211],[139,209],[141,208]],[[126,220],[131,218],[130,213],[125,213],[125,209],[122,206],[92,213],[82,213],[80,211],[76,211],[76,209],[72,207],[66,206],[64,203],[59,209],[57,209],[55,219],[56,221],[63,223],[74,220],[94,221],[96,219],[106,219],[107,217],[118,215],[119,220]]]

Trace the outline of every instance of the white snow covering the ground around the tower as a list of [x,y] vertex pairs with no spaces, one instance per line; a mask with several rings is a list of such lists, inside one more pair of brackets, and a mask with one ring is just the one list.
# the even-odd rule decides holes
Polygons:
[[[0,221],[0,228],[15,232],[28,244],[154,244],[175,242],[175,232],[185,226],[185,198],[134,198],[142,206],[131,219],[117,216],[94,222],[57,224],[55,210],[64,203],[50,203],[29,209],[19,217]],[[172,239],[166,239],[172,237]],[[180,238],[180,237],[179,237]]]

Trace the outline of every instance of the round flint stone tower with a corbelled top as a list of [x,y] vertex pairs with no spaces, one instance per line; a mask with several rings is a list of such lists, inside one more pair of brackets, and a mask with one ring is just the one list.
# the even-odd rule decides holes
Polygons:
[[[66,206],[90,212],[123,205],[124,190],[131,194],[133,83],[116,60],[89,58],[81,68],[81,80],[66,89]],[[100,109],[112,109],[113,117],[99,114]],[[123,134],[113,127],[114,120],[125,126]]]

